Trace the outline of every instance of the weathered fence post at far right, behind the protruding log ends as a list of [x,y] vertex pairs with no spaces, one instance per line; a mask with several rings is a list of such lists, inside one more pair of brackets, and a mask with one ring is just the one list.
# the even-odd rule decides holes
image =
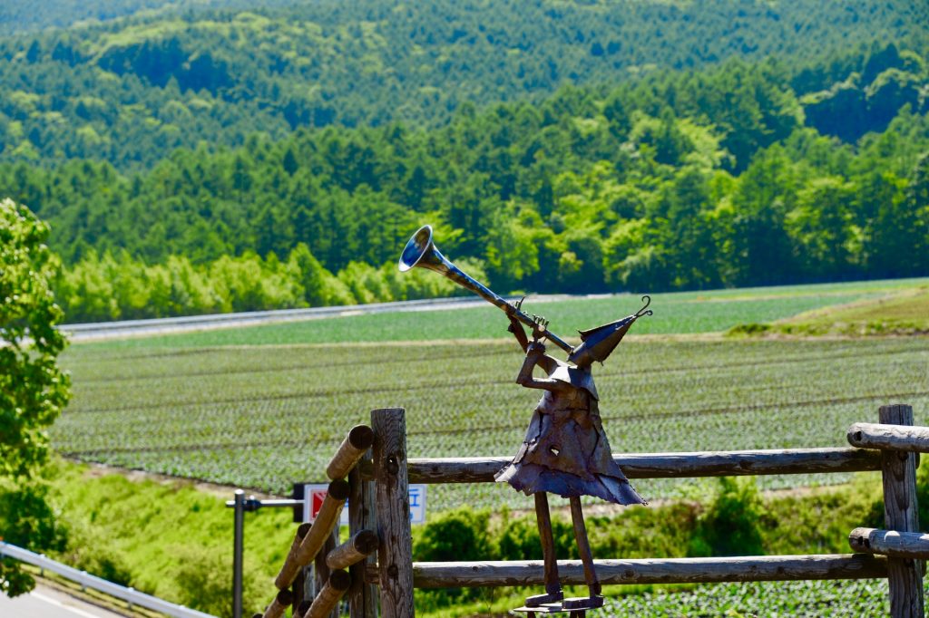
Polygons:
[[[880,422],[912,425],[913,408],[905,405],[881,406]],[[919,532],[916,504],[916,454],[882,451],[883,516],[887,530]],[[922,618],[922,563],[920,560],[887,560],[890,582],[890,615],[894,618]]]

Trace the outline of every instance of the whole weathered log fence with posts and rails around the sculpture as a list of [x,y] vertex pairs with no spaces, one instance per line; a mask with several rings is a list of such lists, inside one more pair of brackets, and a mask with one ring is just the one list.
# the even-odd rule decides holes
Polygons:
[[[536,586],[542,560],[413,562],[409,483],[493,483],[509,457],[408,459],[402,408],[373,410],[371,428],[353,429],[327,468],[333,483],[320,515],[294,544],[275,580],[279,592],[264,614],[321,618],[348,599],[351,618],[412,617],[413,588]],[[808,448],[616,456],[630,479],[880,470],[885,530],[857,528],[849,544],[857,553],[737,558],[595,560],[603,584],[762,582],[886,578],[896,617],[923,615],[922,576],[929,534],[919,533],[917,452],[929,452],[929,428],[913,427],[910,406],[882,406],[880,423],[857,423],[851,448]],[[368,446],[373,444],[373,453]],[[367,456],[366,456],[367,451]],[[347,481],[345,478],[347,477]],[[348,501],[349,539],[331,539]],[[337,534],[337,533],[336,533]],[[375,558],[376,550],[376,558]],[[321,560],[324,556],[325,560]],[[326,581],[316,599],[297,604],[288,591],[298,569],[316,560]],[[583,584],[580,560],[559,560],[562,584]]]

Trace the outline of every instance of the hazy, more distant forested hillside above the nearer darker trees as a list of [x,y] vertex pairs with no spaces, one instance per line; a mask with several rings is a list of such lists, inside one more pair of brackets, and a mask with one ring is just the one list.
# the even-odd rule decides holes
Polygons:
[[[238,146],[256,132],[437,125],[464,102],[539,99],[562,84],[616,84],[726,58],[780,58],[798,97],[831,88],[822,96],[865,97],[875,75],[852,76],[849,52],[874,41],[918,46],[929,24],[924,0],[314,0],[184,10],[242,4],[191,2],[88,3],[160,9],[0,39],[0,161],[141,169],[178,147]],[[25,19],[21,0],[8,6]],[[52,6],[71,15],[81,3]]]

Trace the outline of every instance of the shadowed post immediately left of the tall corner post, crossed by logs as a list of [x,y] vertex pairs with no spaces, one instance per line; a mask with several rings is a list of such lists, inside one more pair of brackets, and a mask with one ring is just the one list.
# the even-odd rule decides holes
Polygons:
[[[371,451],[364,457],[371,458]],[[374,511],[374,483],[361,478],[361,470],[355,466],[348,473],[348,536],[354,537],[362,530],[377,530],[377,518]],[[377,586],[365,582],[366,565],[373,564],[375,556],[368,556],[358,564],[348,568],[351,574],[351,595],[349,612],[351,618],[377,618]]]

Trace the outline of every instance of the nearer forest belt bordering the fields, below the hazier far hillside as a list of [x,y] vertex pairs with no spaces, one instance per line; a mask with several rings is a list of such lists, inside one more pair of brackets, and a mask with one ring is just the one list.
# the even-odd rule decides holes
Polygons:
[[[396,272],[423,223],[501,292],[925,275],[927,49],[846,58],[838,85],[799,97],[833,65],[654,71],[434,128],[178,150],[131,176],[6,163],[0,193],[52,224],[71,319],[432,296],[441,277]],[[836,122],[852,117],[881,132]]]

